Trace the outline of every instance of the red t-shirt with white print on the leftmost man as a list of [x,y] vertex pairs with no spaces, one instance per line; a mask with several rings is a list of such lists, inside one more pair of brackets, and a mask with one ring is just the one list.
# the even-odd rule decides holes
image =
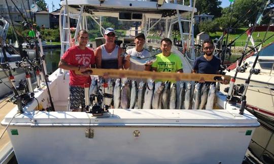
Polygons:
[[[86,48],[81,50],[78,46],[74,46],[68,49],[62,59],[67,62],[67,64],[74,66],[85,66],[89,67],[91,64],[95,64],[95,57],[93,50]],[[75,74],[74,70],[70,70],[70,86],[81,86],[85,83],[90,85],[91,78],[90,76],[86,77],[83,75]]]

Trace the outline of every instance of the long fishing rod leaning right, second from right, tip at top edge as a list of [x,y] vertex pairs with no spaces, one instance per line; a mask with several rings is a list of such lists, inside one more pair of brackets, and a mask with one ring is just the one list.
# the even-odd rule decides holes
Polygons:
[[260,13],[260,12],[258,13],[257,18],[256,18],[254,24],[252,25],[252,30],[251,30],[250,34],[248,35],[248,38],[246,39],[246,44],[245,44],[245,47],[244,47],[244,51],[242,52],[241,60],[238,62],[238,66],[237,66],[237,68],[236,68],[236,71],[235,71],[235,74],[234,74],[233,78],[231,78],[231,80],[230,80],[230,86],[229,86],[228,94],[227,94],[227,97],[226,97],[226,99],[227,99],[228,101],[230,101],[231,98],[232,98],[232,91],[233,91],[233,88],[234,88],[234,83],[235,83],[235,81],[236,81],[236,76],[237,76],[237,73],[238,73],[239,71],[241,71],[241,65],[242,65],[242,62],[243,62],[243,60],[244,60],[245,51],[246,51],[246,49],[247,49],[247,47],[248,47],[248,43],[249,43],[249,40],[250,40],[250,38],[251,38],[251,35],[252,35],[253,31],[255,30],[255,26],[256,26],[257,24],[260,24],[260,21],[261,21],[260,18],[261,18],[261,16],[263,15],[264,10],[266,9],[266,7],[267,7],[267,5],[268,5],[269,3],[270,3],[270,0],[267,1],[267,3],[265,4],[265,6],[264,6],[262,12],[261,12],[261,13]]

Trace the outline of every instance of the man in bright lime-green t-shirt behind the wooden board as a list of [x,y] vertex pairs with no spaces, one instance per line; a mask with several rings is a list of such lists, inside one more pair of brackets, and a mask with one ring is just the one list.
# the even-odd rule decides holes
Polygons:
[[183,72],[181,58],[171,53],[172,40],[163,38],[160,48],[162,53],[156,55],[156,61],[152,63],[151,69],[157,72]]

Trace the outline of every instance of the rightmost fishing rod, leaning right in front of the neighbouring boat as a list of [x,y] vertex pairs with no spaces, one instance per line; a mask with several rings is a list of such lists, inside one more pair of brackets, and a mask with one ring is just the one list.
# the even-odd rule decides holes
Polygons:
[[[273,17],[272,17],[271,20],[269,21],[267,30],[266,30],[266,32],[265,32],[265,34],[264,34],[264,37],[263,37],[263,40],[262,40],[262,44],[265,42],[265,37],[266,37],[266,34],[267,34],[267,32],[268,32],[268,30],[269,30],[269,28],[270,28],[270,24],[271,24],[272,20],[273,20]],[[251,75],[252,75],[252,74],[259,74],[259,73],[260,73],[260,69],[255,69],[255,66],[256,66],[256,64],[257,64],[257,61],[258,61],[260,52],[261,52],[261,50],[260,50],[259,52],[257,52],[255,61],[254,61],[253,65],[252,65],[252,68],[251,68],[250,71],[249,71],[249,76],[248,76],[248,78],[247,78],[247,80],[246,80],[246,82],[245,82],[244,92],[243,92],[242,97],[241,97],[242,103],[241,103],[241,106],[240,106],[239,114],[244,114],[244,110],[245,110],[245,108],[246,108],[246,104],[247,104],[247,97],[246,97],[246,94],[247,94],[248,85],[249,85],[249,83],[250,83]]]

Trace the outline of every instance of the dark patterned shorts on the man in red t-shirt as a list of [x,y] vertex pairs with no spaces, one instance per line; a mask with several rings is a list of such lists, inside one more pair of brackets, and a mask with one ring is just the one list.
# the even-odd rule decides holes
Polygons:
[[70,86],[70,109],[78,109],[85,106],[85,90],[83,87]]

